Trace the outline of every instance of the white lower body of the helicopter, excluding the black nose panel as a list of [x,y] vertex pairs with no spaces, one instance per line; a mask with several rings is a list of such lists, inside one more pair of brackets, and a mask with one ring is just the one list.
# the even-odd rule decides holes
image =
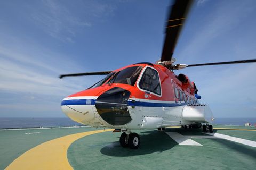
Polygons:
[[[128,106],[131,121],[124,125],[113,126],[107,123],[98,114],[95,107],[97,97],[69,97],[62,101],[62,111],[72,120],[90,126],[118,129],[156,129],[166,126],[191,125],[203,122],[212,122],[213,114],[207,105],[186,105],[175,101],[159,101],[148,99],[132,99],[140,102],[141,106]],[[69,101],[76,101],[72,103]],[[83,102],[79,103],[79,100]],[[163,107],[161,104],[169,104]],[[145,105],[147,104],[147,105]],[[172,105],[173,106],[170,106]]]

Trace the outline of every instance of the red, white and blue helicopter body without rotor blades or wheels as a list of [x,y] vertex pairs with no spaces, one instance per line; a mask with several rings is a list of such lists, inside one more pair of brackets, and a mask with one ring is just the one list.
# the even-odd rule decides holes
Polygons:
[[207,122],[213,119],[211,111],[206,115],[197,109],[197,118],[192,119],[188,110],[189,118],[182,115],[185,106],[201,106],[195,90],[195,84],[187,77],[181,82],[162,65],[133,64],[66,97],[61,108],[76,122],[108,128],[156,129]]

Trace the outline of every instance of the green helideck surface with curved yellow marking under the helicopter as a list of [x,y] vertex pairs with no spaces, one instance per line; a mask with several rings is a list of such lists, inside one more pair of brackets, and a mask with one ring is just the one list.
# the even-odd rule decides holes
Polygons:
[[[255,128],[214,127],[221,137],[256,141]],[[216,139],[202,133],[202,129],[133,132],[141,139],[140,148],[135,150],[121,147],[121,133],[107,129],[0,131],[0,169],[254,169],[256,166],[256,147]],[[180,145],[175,141],[179,137],[199,145]]]

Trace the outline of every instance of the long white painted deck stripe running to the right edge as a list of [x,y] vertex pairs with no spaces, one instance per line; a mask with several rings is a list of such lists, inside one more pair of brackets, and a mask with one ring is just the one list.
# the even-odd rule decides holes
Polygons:
[[233,141],[233,142],[237,142],[237,143],[242,143],[244,145],[248,145],[248,146],[251,146],[251,147],[256,147],[256,142],[252,141],[252,140],[246,140],[246,139],[242,139],[242,138],[230,137],[228,135],[220,134],[220,133],[205,133],[205,134],[209,134],[209,135],[212,135],[214,137],[221,138],[221,139],[227,139],[227,140],[230,140],[230,141]]

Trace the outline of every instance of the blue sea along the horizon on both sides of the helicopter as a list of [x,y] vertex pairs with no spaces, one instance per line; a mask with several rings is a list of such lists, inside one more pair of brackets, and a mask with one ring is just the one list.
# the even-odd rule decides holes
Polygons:
[[[256,124],[256,118],[215,118],[213,124],[219,125],[240,125],[249,122]],[[79,126],[80,123],[70,118],[0,118],[0,129],[3,128],[34,128],[34,127],[58,127],[58,126]]]

